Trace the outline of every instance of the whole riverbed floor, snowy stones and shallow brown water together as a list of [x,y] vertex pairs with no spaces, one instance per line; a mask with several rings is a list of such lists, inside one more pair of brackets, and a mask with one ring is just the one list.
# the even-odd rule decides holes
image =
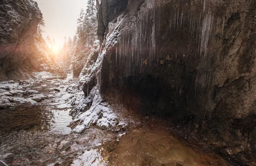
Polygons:
[[114,126],[96,123],[76,133],[70,115],[84,99],[79,84],[75,79],[1,82],[0,160],[9,166],[230,165],[171,129],[152,125],[160,123],[148,117],[125,124],[115,113]]

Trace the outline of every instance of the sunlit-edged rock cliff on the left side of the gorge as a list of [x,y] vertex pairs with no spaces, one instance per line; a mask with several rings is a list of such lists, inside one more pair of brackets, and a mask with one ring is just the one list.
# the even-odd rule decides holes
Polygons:
[[32,0],[0,1],[0,79],[26,79],[32,71],[58,68],[45,53],[43,39],[34,38],[41,19]]

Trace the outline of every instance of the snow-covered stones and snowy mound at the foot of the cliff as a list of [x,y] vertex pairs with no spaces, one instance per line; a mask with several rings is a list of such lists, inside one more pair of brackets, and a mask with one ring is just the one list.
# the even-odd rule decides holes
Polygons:
[[[49,78],[46,72],[34,73],[38,78]],[[0,82],[0,109],[15,109],[20,105],[46,105],[53,110],[73,111],[73,132],[81,133],[91,125],[106,129],[118,124],[118,115],[104,102],[98,87],[84,97],[81,84],[72,78],[28,79],[19,82]],[[120,125],[119,125],[120,126]]]

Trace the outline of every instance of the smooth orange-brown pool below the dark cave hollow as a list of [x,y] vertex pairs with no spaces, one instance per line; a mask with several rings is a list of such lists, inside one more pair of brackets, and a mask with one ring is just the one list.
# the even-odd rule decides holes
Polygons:
[[230,166],[223,158],[191,146],[158,128],[135,129],[108,156],[109,166]]

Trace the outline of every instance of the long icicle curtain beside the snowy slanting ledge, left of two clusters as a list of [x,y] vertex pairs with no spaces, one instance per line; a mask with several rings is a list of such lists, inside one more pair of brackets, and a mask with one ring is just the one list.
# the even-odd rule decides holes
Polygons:
[[155,11],[149,9],[143,19],[128,34],[120,37],[116,45],[115,63],[124,68],[125,77],[141,73],[145,65],[154,65],[156,60]]

